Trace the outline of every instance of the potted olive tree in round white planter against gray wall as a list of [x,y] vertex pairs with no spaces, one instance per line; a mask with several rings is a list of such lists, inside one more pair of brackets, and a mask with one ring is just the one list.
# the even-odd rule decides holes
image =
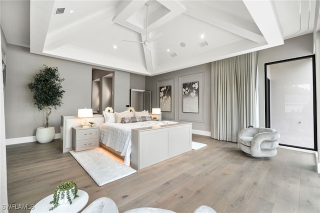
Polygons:
[[49,115],[51,109],[56,109],[62,104],[64,90],[61,82],[64,78],[60,77],[57,67],[44,65],[38,73],[33,76],[33,81],[28,84],[33,92],[34,104],[39,110],[45,110],[46,122],[42,127],[38,127],[35,132],[35,139],[40,142],[50,142],[54,139],[54,126],[49,126]]

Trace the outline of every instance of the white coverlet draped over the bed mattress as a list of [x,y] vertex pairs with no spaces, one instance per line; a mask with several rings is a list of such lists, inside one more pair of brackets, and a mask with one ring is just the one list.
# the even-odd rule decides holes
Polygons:
[[121,152],[124,163],[130,165],[131,154],[131,129],[142,128],[153,125],[165,125],[176,123],[174,121],[143,121],[134,123],[102,123],[100,125],[100,142]]

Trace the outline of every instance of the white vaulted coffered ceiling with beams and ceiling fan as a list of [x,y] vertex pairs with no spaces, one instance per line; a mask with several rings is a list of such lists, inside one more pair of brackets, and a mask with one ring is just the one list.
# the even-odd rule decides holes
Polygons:
[[[315,0],[17,2],[1,2],[8,43],[29,46],[32,53],[144,75],[281,45],[284,39],[316,31],[319,12]],[[25,7],[22,4],[29,6],[29,14],[23,11],[29,15],[29,43],[12,29],[12,21],[26,21],[10,13]],[[10,24],[4,16],[11,18]]]

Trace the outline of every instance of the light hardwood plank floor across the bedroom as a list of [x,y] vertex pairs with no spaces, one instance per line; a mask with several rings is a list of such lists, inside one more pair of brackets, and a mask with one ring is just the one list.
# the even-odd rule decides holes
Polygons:
[[320,212],[314,154],[278,148],[270,159],[255,159],[236,143],[196,134],[192,139],[207,146],[103,186],[70,153],[61,153],[59,139],[8,145],[8,202],[35,204],[59,183],[74,180],[89,194],[88,204],[106,196],[120,212],[141,206],[193,212],[202,204],[217,212]]

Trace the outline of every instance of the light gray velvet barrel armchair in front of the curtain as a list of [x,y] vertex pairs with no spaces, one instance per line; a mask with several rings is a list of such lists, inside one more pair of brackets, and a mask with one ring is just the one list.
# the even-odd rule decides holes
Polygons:
[[252,127],[239,131],[237,143],[246,155],[268,158],[276,155],[279,138],[280,134],[275,129]]

